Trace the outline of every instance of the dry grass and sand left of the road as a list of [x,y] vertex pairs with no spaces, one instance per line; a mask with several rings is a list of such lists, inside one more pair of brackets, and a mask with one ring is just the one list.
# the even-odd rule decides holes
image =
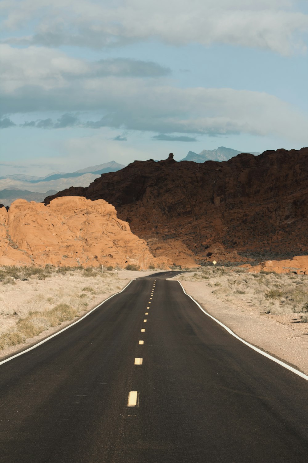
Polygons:
[[[119,275],[124,273],[125,275]],[[0,268],[0,349],[79,317],[130,279],[93,268]],[[150,272],[151,273],[151,272]]]

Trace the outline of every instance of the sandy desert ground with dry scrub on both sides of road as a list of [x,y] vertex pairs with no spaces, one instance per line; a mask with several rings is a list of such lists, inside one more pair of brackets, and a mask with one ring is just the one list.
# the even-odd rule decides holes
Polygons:
[[[2,268],[2,272],[4,271]],[[40,269],[2,273],[0,359],[59,331],[149,271]],[[18,276],[18,277],[17,277]],[[20,279],[21,278],[21,279]],[[246,341],[308,374],[308,276],[203,267],[176,277]]]

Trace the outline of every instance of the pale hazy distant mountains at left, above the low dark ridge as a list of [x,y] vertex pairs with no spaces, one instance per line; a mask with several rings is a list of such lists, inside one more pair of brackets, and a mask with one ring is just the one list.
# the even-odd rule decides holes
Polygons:
[[[0,189],[29,190],[35,193],[50,189],[59,191],[71,186],[82,185],[87,187],[91,181],[103,173],[116,172],[125,167],[115,161],[86,167],[75,172],[53,172],[45,177],[31,175],[4,175],[0,177]],[[46,196],[46,194],[45,194]]]

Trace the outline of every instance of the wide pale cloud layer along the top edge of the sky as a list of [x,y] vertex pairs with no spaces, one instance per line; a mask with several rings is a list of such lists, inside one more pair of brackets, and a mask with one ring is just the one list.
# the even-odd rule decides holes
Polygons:
[[2,29],[35,22],[36,31],[6,43],[91,47],[158,39],[167,44],[242,45],[282,55],[304,50],[308,15],[296,0],[11,0],[3,2]]

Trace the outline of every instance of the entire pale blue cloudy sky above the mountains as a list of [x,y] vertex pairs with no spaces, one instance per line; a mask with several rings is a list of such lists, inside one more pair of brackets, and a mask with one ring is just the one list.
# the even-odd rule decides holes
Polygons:
[[307,0],[2,0],[0,175],[308,145]]

